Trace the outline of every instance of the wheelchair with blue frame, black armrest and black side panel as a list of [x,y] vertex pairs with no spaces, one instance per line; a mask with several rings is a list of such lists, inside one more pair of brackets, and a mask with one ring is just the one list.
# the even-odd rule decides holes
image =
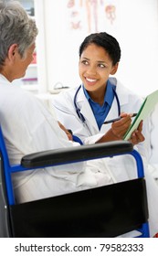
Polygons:
[[[57,197],[16,204],[11,175],[117,155],[134,157],[138,177]],[[25,155],[10,165],[0,129],[0,237],[112,238],[138,230],[149,237],[148,204],[142,157],[131,143],[80,145]]]

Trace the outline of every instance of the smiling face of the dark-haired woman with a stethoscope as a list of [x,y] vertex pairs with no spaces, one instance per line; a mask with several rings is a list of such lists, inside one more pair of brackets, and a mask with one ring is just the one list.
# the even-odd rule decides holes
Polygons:
[[95,44],[85,48],[79,59],[79,77],[89,93],[97,92],[104,95],[107,80],[117,69],[118,63],[113,65],[108,52]]

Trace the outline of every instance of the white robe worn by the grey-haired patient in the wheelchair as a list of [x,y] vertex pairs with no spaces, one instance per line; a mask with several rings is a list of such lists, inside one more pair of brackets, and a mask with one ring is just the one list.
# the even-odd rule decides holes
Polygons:
[[[79,145],[68,141],[66,133],[58,126],[57,118],[47,110],[42,101],[12,85],[1,75],[0,123],[12,164],[20,163],[21,158],[27,154]],[[16,200],[26,202],[132,178],[133,169],[127,172],[122,168],[123,158],[107,158],[107,161],[101,159],[16,173],[13,175]],[[112,167],[113,161],[115,168]],[[127,158],[127,165],[128,163]],[[147,176],[146,181],[153,236],[158,231],[158,187],[154,186],[151,176]]]

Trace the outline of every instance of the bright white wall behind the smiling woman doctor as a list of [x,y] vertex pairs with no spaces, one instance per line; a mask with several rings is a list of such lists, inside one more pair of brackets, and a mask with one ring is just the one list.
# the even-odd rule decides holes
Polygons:
[[[45,67],[40,69],[47,76],[47,88],[53,89],[56,83],[64,86],[79,84],[78,61],[79,45],[89,34],[87,17],[82,12],[82,28],[70,30],[68,0],[40,0],[43,2]],[[38,5],[40,1],[37,0]],[[86,1],[83,0],[85,3]],[[116,37],[121,45],[121,63],[117,73],[125,86],[142,96],[158,89],[158,1],[157,0],[109,0],[102,1],[116,5],[116,19],[113,24],[99,12],[99,30]],[[76,0],[76,3],[79,1]],[[80,11],[80,10],[79,10]],[[39,14],[41,16],[41,14]],[[85,19],[85,20],[84,20]],[[90,33],[95,32],[92,27]],[[40,31],[40,23],[39,23]],[[40,55],[40,44],[37,46]],[[40,81],[40,80],[39,80]],[[45,87],[45,86],[44,86]]]

